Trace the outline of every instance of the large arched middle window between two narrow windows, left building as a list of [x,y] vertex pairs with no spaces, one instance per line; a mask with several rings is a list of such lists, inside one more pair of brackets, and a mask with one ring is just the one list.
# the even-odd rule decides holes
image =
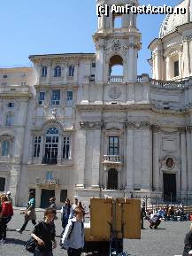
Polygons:
[[47,130],[42,163],[50,165],[57,165],[58,163],[58,128]]

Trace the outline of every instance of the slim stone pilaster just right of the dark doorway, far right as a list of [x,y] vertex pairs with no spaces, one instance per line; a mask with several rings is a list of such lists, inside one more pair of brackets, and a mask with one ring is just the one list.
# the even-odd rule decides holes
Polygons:
[[[186,128],[180,128],[180,191],[184,192],[187,190],[187,152],[186,152]],[[180,179],[179,179],[180,180]]]

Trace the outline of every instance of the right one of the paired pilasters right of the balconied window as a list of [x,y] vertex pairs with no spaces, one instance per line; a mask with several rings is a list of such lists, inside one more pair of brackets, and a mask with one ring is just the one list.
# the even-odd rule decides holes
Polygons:
[[152,133],[150,123],[141,123],[142,128],[142,189],[151,189]]

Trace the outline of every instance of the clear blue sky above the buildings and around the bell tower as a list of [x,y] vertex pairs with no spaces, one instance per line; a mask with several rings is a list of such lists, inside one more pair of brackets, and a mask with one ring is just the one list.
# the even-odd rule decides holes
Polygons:
[[[176,5],[180,0],[141,0],[140,4]],[[158,37],[163,14],[142,14],[138,74],[150,74],[149,43]],[[95,52],[96,0],[6,0],[0,3],[0,66],[26,66],[29,55]]]

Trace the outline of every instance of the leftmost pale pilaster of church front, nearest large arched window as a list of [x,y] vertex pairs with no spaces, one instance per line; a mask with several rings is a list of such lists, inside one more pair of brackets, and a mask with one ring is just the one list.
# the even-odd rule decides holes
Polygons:
[[76,159],[77,159],[77,184],[76,187],[84,188],[84,174],[85,174],[85,151],[86,151],[86,128],[87,123],[81,122],[80,128],[77,131],[77,147],[76,147]]

